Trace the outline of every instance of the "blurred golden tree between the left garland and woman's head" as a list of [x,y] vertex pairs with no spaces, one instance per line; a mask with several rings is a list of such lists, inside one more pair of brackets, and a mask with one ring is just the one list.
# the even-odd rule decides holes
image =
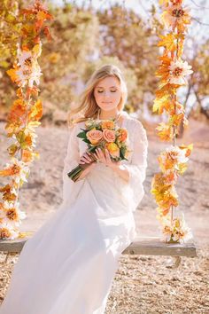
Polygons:
[[66,111],[77,100],[76,86],[96,50],[98,20],[72,4],[51,8],[50,12],[55,20],[51,25],[53,40],[44,44],[40,62],[44,73],[42,98]]

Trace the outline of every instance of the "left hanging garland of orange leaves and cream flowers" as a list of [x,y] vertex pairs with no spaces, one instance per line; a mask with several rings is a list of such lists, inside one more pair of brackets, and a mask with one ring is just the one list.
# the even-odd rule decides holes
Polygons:
[[51,40],[49,27],[45,25],[52,16],[43,4],[36,0],[28,9],[19,12],[21,21],[17,59],[12,69],[7,71],[12,82],[18,85],[17,98],[8,114],[5,130],[14,143],[7,148],[10,162],[0,170],[0,176],[11,178],[9,184],[0,188],[0,239],[24,237],[19,232],[21,220],[26,214],[19,209],[19,188],[27,182],[29,165],[39,153],[35,152],[35,128],[43,115],[43,106],[38,99],[38,85],[42,75],[37,59],[42,53],[41,36]]

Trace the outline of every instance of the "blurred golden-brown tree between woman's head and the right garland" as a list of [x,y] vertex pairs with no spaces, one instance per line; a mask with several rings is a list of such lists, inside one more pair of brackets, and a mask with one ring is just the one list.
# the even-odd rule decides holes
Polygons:
[[135,72],[137,85],[130,94],[135,109],[146,101],[147,92],[153,93],[157,79],[157,36],[145,25],[138,14],[114,5],[98,12],[100,21],[100,55],[117,56],[127,68]]

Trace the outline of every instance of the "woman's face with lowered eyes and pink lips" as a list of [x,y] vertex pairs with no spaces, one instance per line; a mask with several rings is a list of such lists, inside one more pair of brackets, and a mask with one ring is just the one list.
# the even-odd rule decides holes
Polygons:
[[120,103],[122,92],[120,81],[115,76],[107,76],[97,83],[94,89],[97,105],[104,111],[116,108]]

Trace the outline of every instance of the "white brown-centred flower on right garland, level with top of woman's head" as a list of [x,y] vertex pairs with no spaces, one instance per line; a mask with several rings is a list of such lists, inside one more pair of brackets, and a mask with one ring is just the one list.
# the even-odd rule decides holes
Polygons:
[[187,80],[184,76],[191,75],[193,71],[187,61],[182,59],[174,59],[169,66],[170,75],[168,81],[171,84],[185,85]]

